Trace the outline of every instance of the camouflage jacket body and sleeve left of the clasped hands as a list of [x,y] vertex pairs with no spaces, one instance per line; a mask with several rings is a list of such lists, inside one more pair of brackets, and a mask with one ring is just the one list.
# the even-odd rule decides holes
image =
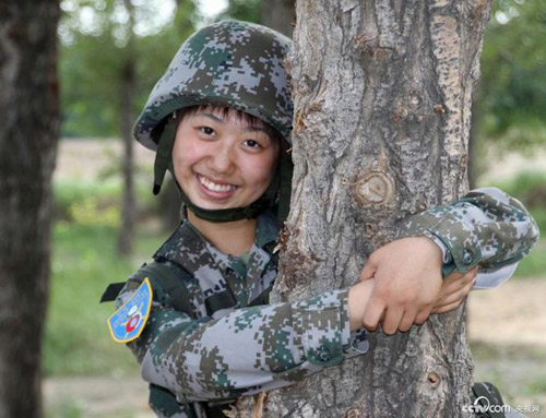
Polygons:
[[[198,416],[204,407],[197,402],[286,386],[368,349],[366,332],[349,331],[347,289],[296,303],[251,306],[269,295],[276,278],[277,238],[274,215],[263,213],[245,263],[218,251],[185,222],[154,255],[180,274],[191,312],[173,309],[170,295],[150,277],[153,311],[129,347],[143,378],[167,387],[180,404],[192,402]],[[136,272],[129,279],[118,306],[145,276]],[[151,404],[159,417],[187,416],[181,405],[176,415],[167,415],[154,398]]]

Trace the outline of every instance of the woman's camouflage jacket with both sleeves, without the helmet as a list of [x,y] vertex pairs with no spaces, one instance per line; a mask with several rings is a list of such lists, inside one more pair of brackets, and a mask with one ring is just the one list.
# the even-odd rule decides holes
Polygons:
[[[476,287],[490,287],[513,273],[538,231],[518,201],[484,189],[410,217],[399,236],[416,235],[442,248],[446,273],[479,264]],[[275,218],[262,214],[242,260],[222,253],[185,222],[154,255],[180,277],[189,300],[186,312],[175,309],[174,292],[150,277],[152,313],[143,334],[128,344],[152,384],[158,417],[211,417],[206,402],[286,386],[367,351],[366,332],[349,332],[348,289],[263,304],[277,274],[277,237]],[[128,280],[118,306],[145,276],[141,270]]]

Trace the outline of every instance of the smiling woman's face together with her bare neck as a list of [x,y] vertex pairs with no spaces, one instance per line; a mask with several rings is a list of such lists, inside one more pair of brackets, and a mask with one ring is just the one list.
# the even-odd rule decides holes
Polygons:
[[257,218],[211,224],[195,215],[195,206],[239,211],[258,201],[268,188],[276,192],[272,180],[281,141],[278,132],[265,122],[233,108],[199,106],[181,112],[173,171],[188,202],[188,220],[221,251],[248,252]]

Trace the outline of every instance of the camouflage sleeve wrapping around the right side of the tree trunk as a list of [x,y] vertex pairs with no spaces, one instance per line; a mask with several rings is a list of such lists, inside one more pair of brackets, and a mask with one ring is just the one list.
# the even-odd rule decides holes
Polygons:
[[538,227],[518,200],[499,189],[484,188],[451,205],[410,217],[397,238],[410,236],[427,236],[444,246],[444,275],[479,264],[475,287],[492,287],[507,277],[486,285],[491,277],[488,273],[525,256],[538,240]]

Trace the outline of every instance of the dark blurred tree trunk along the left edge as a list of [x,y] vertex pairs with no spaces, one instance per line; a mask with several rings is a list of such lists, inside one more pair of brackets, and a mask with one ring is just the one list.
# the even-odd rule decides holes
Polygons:
[[56,0],[0,3],[0,417],[41,416],[58,17]]

